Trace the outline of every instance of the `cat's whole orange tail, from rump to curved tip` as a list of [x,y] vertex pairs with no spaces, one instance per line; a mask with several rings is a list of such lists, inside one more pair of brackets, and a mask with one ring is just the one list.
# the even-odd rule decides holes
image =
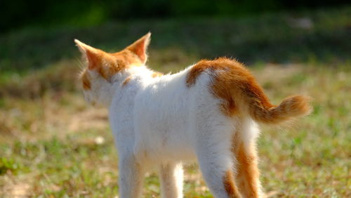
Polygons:
[[279,124],[296,117],[310,114],[310,98],[293,95],[285,98],[279,105],[272,105],[262,88],[257,84],[241,88],[244,103],[248,106],[249,115],[254,120],[265,124]]

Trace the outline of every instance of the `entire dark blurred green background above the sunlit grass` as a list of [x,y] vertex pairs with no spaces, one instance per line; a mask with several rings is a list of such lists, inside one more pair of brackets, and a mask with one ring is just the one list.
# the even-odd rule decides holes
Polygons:
[[[243,62],[345,60],[347,1],[1,1],[0,64],[44,67],[73,58],[72,39],[120,49],[145,32],[153,48],[175,46]],[[337,56],[337,57],[335,57]]]

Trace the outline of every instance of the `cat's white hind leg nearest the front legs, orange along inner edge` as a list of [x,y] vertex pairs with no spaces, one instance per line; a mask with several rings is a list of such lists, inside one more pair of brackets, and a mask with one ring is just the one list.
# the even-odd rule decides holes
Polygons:
[[232,128],[209,126],[202,128],[199,133],[197,157],[201,173],[213,196],[241,197],[234,177],[236,161],[231,152]]

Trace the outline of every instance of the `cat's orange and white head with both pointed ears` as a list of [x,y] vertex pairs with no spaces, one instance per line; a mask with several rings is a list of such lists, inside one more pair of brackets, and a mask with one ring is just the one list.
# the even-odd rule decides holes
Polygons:
[[82,53],[84,69],[80,79],[88,103],[110,105],[114,94],[112,85],[121,83],[118,76],[130,67],[145,65],[150,35],[147,33],[117,53],[107,53],[74,40]]

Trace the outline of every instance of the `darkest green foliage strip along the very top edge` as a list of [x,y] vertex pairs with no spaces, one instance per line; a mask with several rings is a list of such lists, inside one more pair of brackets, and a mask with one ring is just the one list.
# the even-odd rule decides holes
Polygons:
[[271,11],[302,10],[340,6],[347,0],[279,1],[279,0],[4,0],[0,1],[0,29],[30,25],[97,25],[107,20],[135,18],[184,18],[203,15],[255,15]]

